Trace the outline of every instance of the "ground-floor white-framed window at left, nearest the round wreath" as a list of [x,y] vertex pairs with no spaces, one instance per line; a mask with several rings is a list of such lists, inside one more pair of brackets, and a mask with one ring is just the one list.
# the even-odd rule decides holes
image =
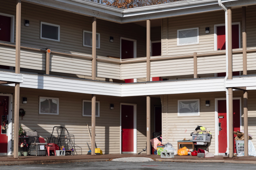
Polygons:
[[39,114],[59,115],[59,98],[40,96]]

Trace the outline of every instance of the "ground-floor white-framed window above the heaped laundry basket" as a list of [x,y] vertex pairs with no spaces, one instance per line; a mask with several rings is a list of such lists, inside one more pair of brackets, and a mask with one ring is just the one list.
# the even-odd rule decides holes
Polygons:
[[199,116],[200,100],[178,100],[178,116]]

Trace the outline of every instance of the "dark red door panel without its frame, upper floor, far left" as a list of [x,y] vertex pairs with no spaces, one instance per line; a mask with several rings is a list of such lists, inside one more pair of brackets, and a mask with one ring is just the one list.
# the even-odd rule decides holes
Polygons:
[[0,15],[0,41],[11,41],[11,17]]

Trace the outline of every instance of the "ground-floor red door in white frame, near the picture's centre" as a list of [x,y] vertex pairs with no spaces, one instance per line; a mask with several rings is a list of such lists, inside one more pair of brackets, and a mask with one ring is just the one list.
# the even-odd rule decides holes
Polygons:
[[133,153],[133,108],[132,105],[121,105],[122,154]]

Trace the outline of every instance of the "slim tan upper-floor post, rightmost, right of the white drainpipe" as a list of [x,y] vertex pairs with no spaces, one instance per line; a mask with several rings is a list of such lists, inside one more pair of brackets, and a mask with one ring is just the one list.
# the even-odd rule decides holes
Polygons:
[[247,38],[246,38],[246,7],[243,6],[242,29],[243,29],[243,75],[247,75]]

